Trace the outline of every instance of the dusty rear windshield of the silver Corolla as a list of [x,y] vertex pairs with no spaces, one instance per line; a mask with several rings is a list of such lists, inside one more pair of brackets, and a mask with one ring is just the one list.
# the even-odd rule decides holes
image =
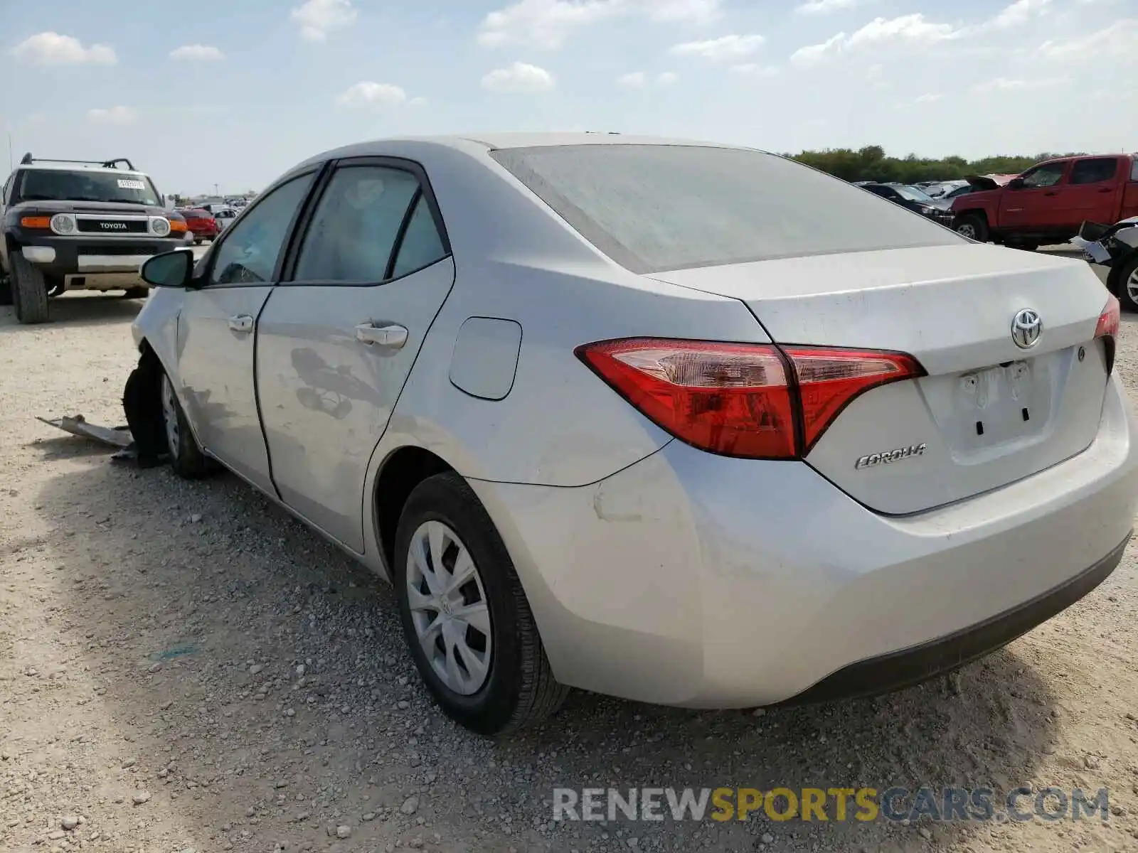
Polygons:
[[635,273],[967,242],[844,181],[760,151],[608,144],[490,156]]

